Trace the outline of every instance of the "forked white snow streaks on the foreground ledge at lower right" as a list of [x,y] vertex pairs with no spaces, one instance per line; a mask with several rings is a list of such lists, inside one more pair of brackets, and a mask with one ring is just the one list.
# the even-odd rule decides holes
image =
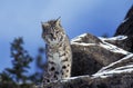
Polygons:
[[133,65],[126,65],[126,66],[122,66],[122,67],[117,67],[115,69],[110,69],[110,67],[114,66],[115,63],[121,62],[122,60],[125,59],[133,59],[133,53],[127,55],[126,57],[124,57],[123,59],[115,61],[106,67],[103,67],[100,71],[98,71],[96,74],[92,75],[94,78],[96,77],[101,77],[101,78],[106,78],[109,76],[113,76],[114,74],[122,74],[122,72],[132,72],[133,71]]

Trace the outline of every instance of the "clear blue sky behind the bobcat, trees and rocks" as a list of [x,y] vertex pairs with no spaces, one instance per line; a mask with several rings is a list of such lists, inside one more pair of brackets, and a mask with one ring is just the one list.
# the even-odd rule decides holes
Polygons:
[[16,37],[23,37],[32,56],[44,47],[41,21],[61,17],[70,38],[84,32],[113,36],[132,4],[133,0],[0,0],[0,71],[11,67],[10,42]]

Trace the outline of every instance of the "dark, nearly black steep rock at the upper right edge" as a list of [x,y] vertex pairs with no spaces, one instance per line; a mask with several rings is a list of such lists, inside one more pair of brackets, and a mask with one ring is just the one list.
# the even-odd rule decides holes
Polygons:
[[124,21],[119,26],[114,36],[127,36],[127,39],[124,41],[116,41],[116,45],[120,48],[123,48],[127,51],[133,52],[133,6],[129,10]]

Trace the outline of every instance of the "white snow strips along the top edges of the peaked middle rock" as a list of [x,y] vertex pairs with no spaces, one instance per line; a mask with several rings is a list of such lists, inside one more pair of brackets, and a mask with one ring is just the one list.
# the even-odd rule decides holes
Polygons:
[[88,33],[83,33],[81,36],[78,36],[75,38],[73,38],[71,40],[71,45],[80,45],[80,46],[100,46],[100,47],[103,47],[110,51],[113,51],[113,52],[116,52],[116,53],[123,53],[123,55],[129,55],[127,51],[114,46],[114,45],[111,45],[109,42],[105,42],[105,40],[124,40],[126,39],[127,37],[126,36],[117,36],[117,37],[113,37],[113,38],[102,38],[102,37],[99,37],[99,39],[102,41],[100,45],[98,43],[84,43],[84,42],[78,42],[78,41],[81,41],[82,38],[86,37]]

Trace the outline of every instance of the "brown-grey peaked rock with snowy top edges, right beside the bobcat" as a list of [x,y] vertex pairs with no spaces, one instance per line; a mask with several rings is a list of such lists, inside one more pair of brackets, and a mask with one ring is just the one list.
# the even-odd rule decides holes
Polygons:
[[103,66],[129,53],[89,33],[72,39],[71,47],[73,52],[72,76],[95,74]]

